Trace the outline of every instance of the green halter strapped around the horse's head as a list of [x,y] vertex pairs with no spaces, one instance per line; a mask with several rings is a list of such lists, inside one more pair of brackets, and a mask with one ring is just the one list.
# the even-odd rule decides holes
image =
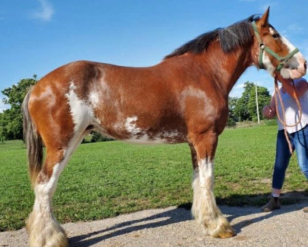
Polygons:
[[264,45],[264,43],[261,40],[260,37],[260,33],[258,31],[257,25],[255,22],[252,23],[253,28],[255,30],[255,34],[257,37],[257,40],[259,42],[259,67],[260,68],[264,68],[263,66],[263,62],[262,62],[262,57],[263,57],[263,50],[265,50],[267,53],[271,54],[274,58],[276,58],[279,61],[279,65],[276,68],[277,72],[280,72],[280,70],[282,69],[283,65],[290,59],[292,58],[298,51],[298,48],[295,48],[293,51],[291,51],[288,55],[286,55],[285,57],[280,57],[276,52],[274,52],[273,50],[269,49],[267,46]]

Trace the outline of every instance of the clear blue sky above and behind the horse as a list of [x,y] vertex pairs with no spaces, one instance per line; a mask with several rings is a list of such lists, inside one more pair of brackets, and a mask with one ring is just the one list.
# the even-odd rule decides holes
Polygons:
[[[154,65],[199,34],[267,6],[271,24],[308,57],[306,0],[2,0],[0,90],[74,60]],[[247,80],[273,90],[273,79],[251,67],[230,95],[240,96]],[[7,107],[0,103],[0,110]]]

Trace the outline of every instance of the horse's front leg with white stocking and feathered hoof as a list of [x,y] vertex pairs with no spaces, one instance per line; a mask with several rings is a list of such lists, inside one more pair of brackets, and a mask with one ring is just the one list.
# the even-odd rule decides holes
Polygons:
[[[192,203],[192,215],[202,225],[206,234],[229,238],[235,235],[228,220],[221,214],[216,205],[213,183],[214,183],[214,156],[218,142],[215,132],[207,132],[192,136],[191,149],[194,164],[194,201]],[[197,154],[197,164],[194,156]]]

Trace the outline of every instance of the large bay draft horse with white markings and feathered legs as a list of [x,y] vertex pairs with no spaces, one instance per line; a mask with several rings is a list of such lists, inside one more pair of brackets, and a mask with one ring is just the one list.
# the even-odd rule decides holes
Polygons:
[[204,33],[155,66],[76,61],[38,81],[22,107],[35,192],[27,221],[30,246],[68,246],[51,198],[61,171],[91,131],[132,143],[188,143],[194,169],[192,215],[205,234],[234,236],[213,194],[213,161],[228,118],[228,94],[248,66],[278,73],[282,83],[306,73],[303,55],[293,52],[295,47],[268,23],[268,14],[269,9],[261,17]]

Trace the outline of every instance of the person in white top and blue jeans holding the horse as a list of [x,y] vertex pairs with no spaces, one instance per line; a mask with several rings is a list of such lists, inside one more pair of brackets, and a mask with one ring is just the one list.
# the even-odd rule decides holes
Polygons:
[[[285,80],[285,79],[283,79]],[[280,80],[281,81],[281,80]],[[296,101],[290,96],[292,94],[292,80],[285,80],[280,87],[280,94],[285,109],[285,121],[287,125],[295,125],[299,121],[299,109]],[[294,80],[295,91],[299,99],[302,117],[294,127],[286,127],[293,150],[296,150],[298,165],[308,180],[308,83],[304,78]],[[279,116],[283,119],[281,103],[278,97]],[[263,115],[272,119],[276,116],[275,93],[269,105],[263,108]],[[278,121],[278,133],[276,143],[276,158],[273,172],[271,199],[262,207],[263,211],[272,211],[280,208],[279,197],[285,178],[285,171],[291,158],[290,149],[284,134],[284,125]],[[308,207],[303,208],[308,213]]]

